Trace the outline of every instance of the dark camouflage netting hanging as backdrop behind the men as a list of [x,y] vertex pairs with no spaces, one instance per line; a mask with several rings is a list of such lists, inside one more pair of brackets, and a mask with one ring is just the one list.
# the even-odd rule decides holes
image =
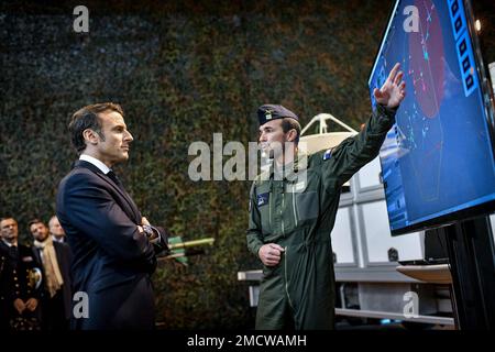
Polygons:
[[[302,125],[330,112],[359,129],[392,1],[84,3],[88,34],[73,31],[78,2],[0,4],[0,215],[15,217],[29,241],[28,221],[54,213],[76,158],[72,112],[120,102],[135,141],[117,172],[143,215],[184,240],[216,239],[188,267],[160,264],[161,327],[252,328],[248,284],[237,280],[258,267],[245,246],[250,183],[191,182],[188,146],[211,144],[215,132],[223,143],[255,140],[265,102],[285,105]],[[486,13],[490,62],[495,11]]]

